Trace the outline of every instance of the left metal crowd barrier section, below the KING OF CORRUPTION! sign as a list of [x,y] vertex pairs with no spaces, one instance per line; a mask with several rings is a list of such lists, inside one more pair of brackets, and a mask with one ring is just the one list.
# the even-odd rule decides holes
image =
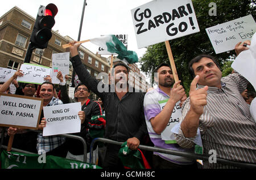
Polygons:
[[[42,131],[39,131],[39,130],[28,130],[28,131],[34,131],[34,132],[42,132]],[[2,136],[4,135],[4,131],[2,132]],[[83,157],[83,162],[86,162],[87,161],[87,144],[86,144],[86,141],[84,138],[80,137],[80,136],[76,136],[76,135],[71,135],[71,134],[60,134],[60,135],[57,135],[57,136],[63,136],[65,138],[71,138],[71,139],[77,139],[77,140],[80,140],[84,146],[84,157]],[[14,136],[15,138],[15,136]],[[7,146],[6,145],[2,145],[3,143],[3,138],[1,138],[1,143],[0,143],[0,149],[3,148],[3,149],[7,149]],[[35,154],[35,153],[32,153],[32,152],[28,152],[28,151],[23,151],[22,149],[16,149],[16,148],[11,148],[11,150],[13,151],[16,151],[16,152],[21,152],[21,153],[28,153],[28,154]]]

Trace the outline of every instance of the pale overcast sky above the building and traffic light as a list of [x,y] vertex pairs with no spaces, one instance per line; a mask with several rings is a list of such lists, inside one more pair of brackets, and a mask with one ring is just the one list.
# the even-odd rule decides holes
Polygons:
[[[138,58],[146,52],[146,48],[138,49],[135,37],[131,10],[152,0],[87,0],[82,22],[80,40],[88,40],[101,35],[128,35],[128,50],[137,53]],[[47,6],[53,3],[58,12],[55,16],[53,30],[59,30],[61,36],[78,39],[82,15],[82,0],[9,0],[0,6],[0,17],[14,6],[19,7],[27,14],[36,18],[40,5]],[[98,46],[91,42],[82,44],[96,54]],[[108,55],[103,55],[108,57]],[[139,63],[137,63],[139,66]]]

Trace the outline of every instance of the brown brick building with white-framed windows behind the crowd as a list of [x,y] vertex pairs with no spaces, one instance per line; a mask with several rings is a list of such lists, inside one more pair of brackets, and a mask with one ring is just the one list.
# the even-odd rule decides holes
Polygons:
[[[19,69],[26,56],[34,23],[34,17],[16,6],[0,17],[0,67]],[[52,54],[68,52],[68,49],[63,49],[61,45],[71,40],[71,37],[61,36],[58,31],[52,30],[47,48],[33,50],[30,63],[52,67]],[[110,64],[106,58],[98,57],[82,45],[79,52],[82,62],[92,76],[97,76],[99,72],[109,73]],[[71,80],[72,71],[70,66],[68,83]],[[97,98],[96,95],[92,97]]]

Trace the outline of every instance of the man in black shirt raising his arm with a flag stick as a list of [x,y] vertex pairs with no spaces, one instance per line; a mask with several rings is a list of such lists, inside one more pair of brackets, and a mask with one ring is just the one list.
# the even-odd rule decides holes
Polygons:
[[[90,76],[82,65],[77,50],[80,44],[76,41],[71,42],[71,44],[72,46],[69,48],[72,57],[71,62],[76,74],[86,87],[89,87],[101,98],[104,104],[106,112],[105,138],[118,142],[127,141],[127,146],[130,149],[137,149],[148,134],[143,111],[145,93],[135,92],[134,88],[129,89],[127,85],[129,70],[124,64],[114,66],[114,89],[112,85],[109,85],[106,91],[99,91],[102,90],[98,89],[98,87],[100,88],[99,82]],[[121,168],[122,162],[118,158],[120,146],[113,144],[106,146],[103,168]]]

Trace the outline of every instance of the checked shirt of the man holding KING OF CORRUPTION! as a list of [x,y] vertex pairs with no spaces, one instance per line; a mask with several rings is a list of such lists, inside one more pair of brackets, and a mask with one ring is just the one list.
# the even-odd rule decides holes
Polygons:
[[[58,98],[52,97],[52,100],[49,102],[47,106],[55,106],[61,105],[63,102]],[[43,136],[43,133],[38,133],[38,144],[36,144],[36,148],[38,149],[38,154],[52,151],[53,149],[59,147],[61,144],[65,142],[65,137],[60,136]]]

